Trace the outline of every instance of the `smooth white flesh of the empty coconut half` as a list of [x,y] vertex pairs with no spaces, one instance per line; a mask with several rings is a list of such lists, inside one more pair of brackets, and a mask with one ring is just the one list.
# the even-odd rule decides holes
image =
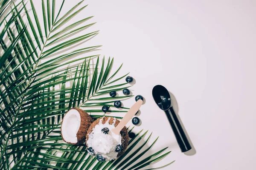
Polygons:
[[66,142],[77,143],[77,132],[81,124],[81,117],[79,111],[71,109],[68,111],[61,125],[62,137]]

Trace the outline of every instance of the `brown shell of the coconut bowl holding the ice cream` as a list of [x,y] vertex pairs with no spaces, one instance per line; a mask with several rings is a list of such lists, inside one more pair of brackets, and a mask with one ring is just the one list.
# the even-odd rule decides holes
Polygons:
[[[114,118],[113,117],[108,117],[108,116],[104,116],[102,118],[99,118],[97,120],[95,120],[89,127],[89,129],[87,130],[87,135],[86,135],[86,141],[88,139],[89,134],[93,131],[94,127],[96,125],[99,124],[100,119],[102,119],[102,124],[105,124],[108,119],[109,119],[109,124],[113,125],[114,122]],[[116,123],[115,123],[115,127],[119,124],[119,120],[116,119]],[[127,132],[127,128],[123,127],[122,130],[120,131],[120,134],[122,136],[122,151],[118,153],[117,157],[121,156],[123,153],[125,153],[126,148],[128,147],[128,142],[129,142],[129,135]]]

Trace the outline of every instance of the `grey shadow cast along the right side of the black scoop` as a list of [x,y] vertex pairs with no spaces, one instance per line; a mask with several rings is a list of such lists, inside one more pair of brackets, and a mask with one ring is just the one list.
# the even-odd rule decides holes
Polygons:
[[169,94],[170,94],[171,99],[172,99],[172,107],[171,107],[171,109],[172,109],[173,112],[176,113],[176,115],[177,115],[177,117],[178,117],[178,119],[179,119],[179,121],[180,121],[180,125],[182,126],[182,128],[183,128],[183,130],[184,130],[184,133],[186,134],[186,137],[187,137],[187,139],[188,139],[188,141],[189,141],[189,144],[190,144],[191,147],[192,147],[190,150],[188,150],[188,151],[186,151],[186,152],[183,152],[183,153],[184,153],[185,155],[187,155],[187,156],[195,155],[195,154],[196,154],[195,147],[194,147],[194,145],[193,145],[191,139],[189,138],[189,134],[187,133],[186,128],[184,127],[184,125],[183,125],[183,123],[182,123],[182,121],[181,121],[181,119],[180,119],[180,116],[179,116],[179,114],[178,114],[178,112],[179,112],[179,107],[178,107],[177,100],[176,100],[175,96],[174,96],[170,91],[169,91]]

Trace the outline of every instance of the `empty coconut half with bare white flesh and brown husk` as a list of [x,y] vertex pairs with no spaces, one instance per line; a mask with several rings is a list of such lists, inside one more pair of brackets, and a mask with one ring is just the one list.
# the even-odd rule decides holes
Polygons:
[[87,130],[93,120],[88,113],[72,108],[65,113],[61,123],[61,137],[69,144],[83,144],[86,141]]

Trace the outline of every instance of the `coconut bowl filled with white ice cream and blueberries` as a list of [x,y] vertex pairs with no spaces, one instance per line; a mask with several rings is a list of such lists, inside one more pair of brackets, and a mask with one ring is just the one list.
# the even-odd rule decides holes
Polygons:
[[119,122],[116,118],[104,116],[90,125],[87,131],[87,150],[98,161],[114,160],[125,152],[129,142],[126,127],[119,135],[111,132]]

